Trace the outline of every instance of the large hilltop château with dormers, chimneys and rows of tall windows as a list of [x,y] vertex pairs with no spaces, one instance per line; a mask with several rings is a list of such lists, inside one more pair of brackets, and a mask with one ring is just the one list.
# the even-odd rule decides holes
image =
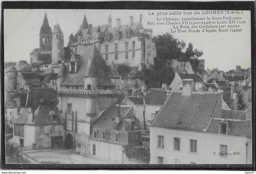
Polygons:
[[96,43],[107,64],[114,61],[115,64],[129,64],[137,68],[141,64],[147,68],[154,66],[156,50],[152,30],[143,28],[142,15],[137,23],[133,21],[133,16],[129,16],[128,24],[121,24],[121,19],[117,18],[116,26],[112,26],[111,16],[106,22],[93,27],[84,16],[80,29],[69,37],[69,49],[77,54],[80,45]]

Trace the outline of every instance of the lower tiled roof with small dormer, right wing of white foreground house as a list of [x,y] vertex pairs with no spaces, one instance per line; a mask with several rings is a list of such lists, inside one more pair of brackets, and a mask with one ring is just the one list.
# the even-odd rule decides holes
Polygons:
[[[224,119],[217,119],[213,118],[210,121],[210,124],[207,128],[207,133],[219,133],[219,123],[223,121]],[[243,136],[243,137],[251,137],[251,131],[252,131],[252,123],[250,120],[231,120],[227,119],[227,122],[229,123],[229,131],[227,132],[227,135],[230,136]]]

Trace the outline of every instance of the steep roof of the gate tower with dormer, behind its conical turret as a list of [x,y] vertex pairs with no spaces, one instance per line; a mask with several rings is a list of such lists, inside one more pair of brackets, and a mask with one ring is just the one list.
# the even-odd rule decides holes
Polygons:
[[63,83],[61,85],[84,85],[84,77],[87,74],[88,63],[90,58],[92,58],[93,68],[96,71],[98,76],[99,85],[102,86],[113,86],[113,84],[108,79],[108,66],[105,63],[104,59],[99,54],[98,49],[95,46],[86,46],[84,47],[86,54],[85,57],[78,58],[78,72],[69,73],[66,72],[64,76]]

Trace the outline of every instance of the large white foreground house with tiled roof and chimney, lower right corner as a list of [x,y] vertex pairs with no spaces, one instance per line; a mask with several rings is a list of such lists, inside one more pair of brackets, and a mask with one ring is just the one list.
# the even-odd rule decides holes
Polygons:
[[251,164],[251,121],[222,114],[222,93],[193,92],[192,82],[183,80],[149,128],[151,164]]

